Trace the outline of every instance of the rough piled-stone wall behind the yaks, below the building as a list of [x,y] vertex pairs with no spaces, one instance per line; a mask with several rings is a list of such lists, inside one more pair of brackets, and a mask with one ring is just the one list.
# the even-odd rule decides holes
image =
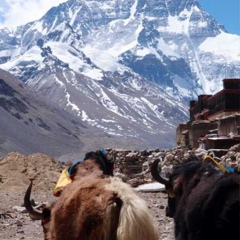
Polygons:
[[[150,167],[155,159],[159,159],[159,167],[162,169],[162,175],[168,176],[175,165],[185,161],[189,156],[195,155],[200,160],[208,153],[204,149],[196,148],[188,150],[186,148],[175,148],[169,150],[153,149],[142,151],[131,151],[121,149],[108,149],[115,160],[114,175],[122,178],[133,187],[143,183],[152,182]],[[240,171],[240,144],[229,149],[226,155],[215,159],[224,166],[235,167]]]

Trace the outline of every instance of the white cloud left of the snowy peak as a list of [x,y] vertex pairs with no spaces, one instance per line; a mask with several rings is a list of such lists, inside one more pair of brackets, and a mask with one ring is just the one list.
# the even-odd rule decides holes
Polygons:
[[0,28],[20,26],[40,19],[51,7],[67,0],[1,0]]

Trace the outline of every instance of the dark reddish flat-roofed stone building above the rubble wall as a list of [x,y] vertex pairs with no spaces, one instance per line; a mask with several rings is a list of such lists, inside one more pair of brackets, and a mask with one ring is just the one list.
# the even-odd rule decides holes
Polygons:
[[240,79],[223,79],[223,87],[190,101],[190,121],[176,129],[178,146],[227,149],[240,142]]

